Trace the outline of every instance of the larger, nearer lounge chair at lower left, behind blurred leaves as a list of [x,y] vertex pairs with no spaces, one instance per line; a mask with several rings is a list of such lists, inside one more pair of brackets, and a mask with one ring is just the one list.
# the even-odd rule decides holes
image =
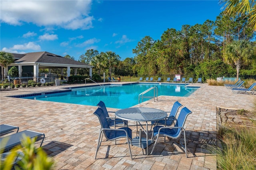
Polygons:
[[22,132],[18,132],[18,133],[14,133],[14,134],[10,134],[8,136],[4,136],[2,138],[0,138],[0,150],[9,150],[10,148],[20,144],[22,142],[22,137],[23,136],[27,136],[29,138],[35,138],[35,137],[40,137],[42,136],[42,142],[40,144],[40,147],[42,146],[43,142],[44,142],[44,133],[41,132],[35,132],[35,131],[31,131],[31,130],[24,130]]

